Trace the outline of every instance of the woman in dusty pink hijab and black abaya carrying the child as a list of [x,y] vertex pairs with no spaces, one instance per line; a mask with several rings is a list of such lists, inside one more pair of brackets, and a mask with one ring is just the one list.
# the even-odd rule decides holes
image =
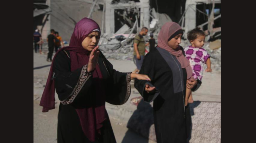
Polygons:
[[180,25],[165,23],[157,47],[145,56],[140,70],[151,81],[135,79],[134,86],[144,101],[154,101],[157,143],[187,143],[189,137],[191,117],[189,105],[185,106],[186,87],[192,89],[197,81],[187,81],[192,69],[180,46],[182,35]]

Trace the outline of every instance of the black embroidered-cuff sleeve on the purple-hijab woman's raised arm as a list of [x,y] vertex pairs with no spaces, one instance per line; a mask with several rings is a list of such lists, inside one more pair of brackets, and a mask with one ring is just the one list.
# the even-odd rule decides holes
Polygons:
[[69,57],[66,51],[61,51],[53,64],[56,93],[64,105],[84,98],[92,85],[92,74],[87,72],[87,65],[71,72]]

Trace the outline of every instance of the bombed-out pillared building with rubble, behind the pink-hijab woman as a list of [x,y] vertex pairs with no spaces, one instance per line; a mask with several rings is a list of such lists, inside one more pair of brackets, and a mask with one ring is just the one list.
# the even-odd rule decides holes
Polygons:
[[[184,30],[182,46],[186,47],[188,31],[200,27],[207,34],[205,49],[212,55],[216,70],[221,67],[221,1],[220,0],[106,0],[99,45],[108,58],[132,59],[133,38],[142,27],[157,36],[161,26],[177,22]],[[147,40],[148,36],[145,37]],[[209,42],[208,42],[209,41]],[[217,43],[217,44],[216,44]],[[213,66],[215,67],[215,66]]]

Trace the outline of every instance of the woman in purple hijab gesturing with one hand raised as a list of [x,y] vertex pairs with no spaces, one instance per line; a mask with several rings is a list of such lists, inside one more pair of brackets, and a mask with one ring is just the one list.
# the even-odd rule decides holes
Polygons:
[[97,46],[99,25],[80,20],[68,47],[55,54],[41,98],[43,112],[55,108],[55,90],[61,101],[58,143],[116,143],[105,102],[124,104],[131,94],[131,79],[148,76],[113,69]]

